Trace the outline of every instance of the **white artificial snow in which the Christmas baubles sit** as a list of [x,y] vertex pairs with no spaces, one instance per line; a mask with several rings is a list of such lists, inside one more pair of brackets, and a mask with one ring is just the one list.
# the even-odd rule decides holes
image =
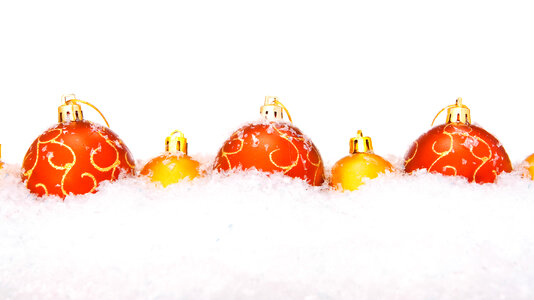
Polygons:
[[0,171],[2,299],[532,299],[534,182],[256,171],[36,198]]

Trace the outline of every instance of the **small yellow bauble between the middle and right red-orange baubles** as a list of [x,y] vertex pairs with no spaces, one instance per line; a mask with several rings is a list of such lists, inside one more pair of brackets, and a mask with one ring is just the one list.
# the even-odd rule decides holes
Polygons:
[[350,139],[350,155],[343,157],[332,167],[330,185],[337,190],[354,191],[364,183],[365,178],[375,178],[393,166],[382,157],[373,153],[370,137],[362,131]]

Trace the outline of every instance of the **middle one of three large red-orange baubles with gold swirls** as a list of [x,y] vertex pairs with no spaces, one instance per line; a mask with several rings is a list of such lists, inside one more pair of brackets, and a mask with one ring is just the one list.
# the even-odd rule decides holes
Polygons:
[[260,109],[262,120],[234,132],[219,150],[214,168],[255,168],[263,172],[282,172],[311,185],[324,182],[323,160],[319,151],[292,123],[291,116],[277,97],[265,97]]

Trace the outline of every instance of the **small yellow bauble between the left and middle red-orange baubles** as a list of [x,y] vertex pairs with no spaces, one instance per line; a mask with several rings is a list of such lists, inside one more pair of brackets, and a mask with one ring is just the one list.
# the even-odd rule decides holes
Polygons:
[[165,139],[165,153],[151,159],[141,170],[141,175],[167,187],[182,179],[197,177],[199,167],[200,163],[187,155],[184,134],[175,130]]

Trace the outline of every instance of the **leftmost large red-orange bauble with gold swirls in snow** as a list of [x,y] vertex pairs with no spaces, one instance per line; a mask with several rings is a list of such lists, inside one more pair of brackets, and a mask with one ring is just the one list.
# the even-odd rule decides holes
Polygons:
[[[34,194],[57,195],[95,192],[104,180],[134,174],[128,147],[92,104],[63,96],[59,123],[47,129],[30,146],[22,162],[22,180]],[[104,127],[83,119],[80,104],[93,107],[104,119]]]

